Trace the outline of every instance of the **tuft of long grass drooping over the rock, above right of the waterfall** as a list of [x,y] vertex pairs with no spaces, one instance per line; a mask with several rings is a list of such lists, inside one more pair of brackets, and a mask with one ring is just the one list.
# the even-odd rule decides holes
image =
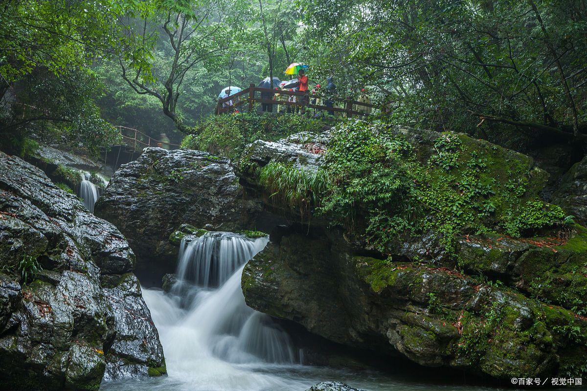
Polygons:
[[312,206],[318,206],[328,186],[324,171],[305,171],[293,165],[270,162],[261,168],[259,183],[271,193],[269,198],[279,205],[297,210],[305,216]]

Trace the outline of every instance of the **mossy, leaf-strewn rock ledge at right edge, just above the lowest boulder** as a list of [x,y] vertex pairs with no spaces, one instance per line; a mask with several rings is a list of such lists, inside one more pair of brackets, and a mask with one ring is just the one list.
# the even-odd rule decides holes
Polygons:
[[587,315],[587,229],[568,240],[514,239],[487,234],[459,240],[458,265],[470,274],[515,287],[533,297]]

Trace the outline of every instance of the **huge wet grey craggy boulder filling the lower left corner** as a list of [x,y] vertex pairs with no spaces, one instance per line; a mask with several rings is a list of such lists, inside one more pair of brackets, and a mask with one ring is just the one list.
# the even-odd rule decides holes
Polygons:
[[164,373],[134,253],[111,223],[0,152],[0,383],[97,389]]

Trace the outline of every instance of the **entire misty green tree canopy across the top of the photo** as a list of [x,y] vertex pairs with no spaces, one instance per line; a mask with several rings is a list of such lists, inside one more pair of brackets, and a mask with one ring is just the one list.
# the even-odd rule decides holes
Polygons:
[[[574,0],[15,0],[0,13],[1,132],[29,123],[86,144],[110,123],[190,132],[222,87],[291,62],[384,117],[489,137],[583,144],[587,4]],[[86,129],[86,136],[79,137]],[[488,135],[489,134],[489,135]]]

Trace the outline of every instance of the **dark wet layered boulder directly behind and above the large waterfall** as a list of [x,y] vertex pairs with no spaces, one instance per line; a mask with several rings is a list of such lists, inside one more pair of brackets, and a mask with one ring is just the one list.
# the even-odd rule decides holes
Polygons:
[[116,171],[95,207],[129,240],[137,273],[161,270],[158,281],[175,270],[178,247],[169,237],[181,224],[234,231],[250,225],[256,210],[257,204],[243,199],[228,159],[161,148],[145,148]]

